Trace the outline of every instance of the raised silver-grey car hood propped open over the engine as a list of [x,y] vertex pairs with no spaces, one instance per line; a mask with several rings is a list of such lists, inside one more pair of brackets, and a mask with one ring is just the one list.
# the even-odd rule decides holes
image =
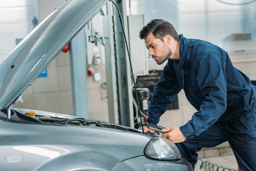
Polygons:
[[69,0],[0,62],[0,110],[12,105],[108,0]]

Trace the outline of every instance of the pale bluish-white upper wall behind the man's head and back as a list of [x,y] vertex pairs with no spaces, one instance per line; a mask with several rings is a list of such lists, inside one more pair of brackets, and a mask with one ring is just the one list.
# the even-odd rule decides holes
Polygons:
[[[249,1],[223,2],[242,4]],[[145,23],[154,18],[165,19],[184,37],[206,40],[226,51],[231,49],[223,40],[232,34],[250,33],[251,40],[256,39],[255,7],[256,3],[228,5],[210,0],[162,0],[157,3],[155,0],[126,0],[127,14],[129,11],[132,15],[143,14]],[[255,46],[252,50],[256,50]]]

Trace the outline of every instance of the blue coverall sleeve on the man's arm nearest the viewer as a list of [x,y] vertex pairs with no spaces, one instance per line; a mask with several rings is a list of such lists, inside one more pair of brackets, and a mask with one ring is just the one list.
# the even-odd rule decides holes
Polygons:
[[226,61],[215,53],[205,53],[197,60],[196,81],[205,100],[200,111],[180,127],[182,134],[193,138],[214,124],[227,108]]

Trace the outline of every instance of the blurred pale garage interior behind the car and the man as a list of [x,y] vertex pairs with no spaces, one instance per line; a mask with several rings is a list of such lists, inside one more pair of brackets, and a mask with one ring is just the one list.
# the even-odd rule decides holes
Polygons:
[[[0,60],[63,3],[65,0],[1,1]],[[228,52],[234,67],[256,80],[256,3],[230,5],[215,0],[116,0],[115,3],[125,14],[123,22],[137,80],[162,71],[167,62],[157,65],[148,56],[144,40],[138,36],[139,30],[154,18],[167,20],[179,34],[188,38],[220,46]],[[69,49],[62,50],[23,92],[23,103],[17,102],[13,108],[49,111],[135,127],[133,80],[116,14],[111,3],[102,7],[101,12],[70,42]],[[177,106],[167,110],[158,125],[184,125],[195,112],[197,110],[182,90],[177,96]],[[228,142],[202,149],[199,158],[237,169]]]

